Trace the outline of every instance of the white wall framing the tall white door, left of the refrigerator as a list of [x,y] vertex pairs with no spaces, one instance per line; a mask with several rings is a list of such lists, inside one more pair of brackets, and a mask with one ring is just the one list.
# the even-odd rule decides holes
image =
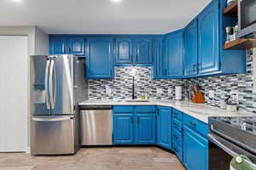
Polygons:
[[[2,36],[27,36],[27,63],[30,65],[30,55],[49,54],[49,36],[37,26],[0,26]],[[30,111],[30,68],[27,68],[27,111]],[[30,146],[30,112],[27,113],[28,123],[28,146]]]

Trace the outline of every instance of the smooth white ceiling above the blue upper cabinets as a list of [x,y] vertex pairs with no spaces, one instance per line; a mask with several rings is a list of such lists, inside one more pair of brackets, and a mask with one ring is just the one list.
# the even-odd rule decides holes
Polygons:
[[186,26],[211,0],[0,0],[0,26],[49,34],[163,34]]

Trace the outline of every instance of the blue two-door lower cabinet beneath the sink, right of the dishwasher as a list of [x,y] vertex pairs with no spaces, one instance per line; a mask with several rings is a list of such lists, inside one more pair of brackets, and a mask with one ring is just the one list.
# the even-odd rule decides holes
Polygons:
[[113,144],[156,144],[155,106],[114,106]]

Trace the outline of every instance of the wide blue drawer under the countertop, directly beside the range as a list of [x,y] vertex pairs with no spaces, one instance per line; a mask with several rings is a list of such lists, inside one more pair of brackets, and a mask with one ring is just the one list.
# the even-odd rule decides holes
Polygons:
[[207,137],[208,126],[207,123],[201,122],[195,119],[192,116],[188,116],[184,114],[183,116],[184,124],[186,124],[189,128],[193,129],[197,133],[201,133],[201,135]]

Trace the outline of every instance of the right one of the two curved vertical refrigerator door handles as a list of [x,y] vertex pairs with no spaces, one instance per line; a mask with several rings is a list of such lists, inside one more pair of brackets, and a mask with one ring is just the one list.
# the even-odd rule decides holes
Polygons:
[[55,74],[55,61],[51,61],[49,69],[49,99],[51,109],[55,109],[55,97],[56,97],[56,74]]

